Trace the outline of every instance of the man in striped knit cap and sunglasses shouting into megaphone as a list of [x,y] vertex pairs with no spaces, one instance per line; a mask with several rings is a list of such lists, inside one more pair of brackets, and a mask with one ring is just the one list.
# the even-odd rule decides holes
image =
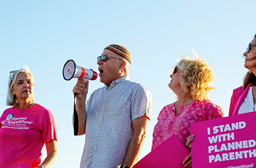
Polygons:
[[152,95],[129,79],[131,55],[124,46],[107,46],[97,64],[105,86],[95,90],[87,103],[89,81],[78,79],[73,89],[78,135],[86,134],[80,167],[132,167],[145,139]]

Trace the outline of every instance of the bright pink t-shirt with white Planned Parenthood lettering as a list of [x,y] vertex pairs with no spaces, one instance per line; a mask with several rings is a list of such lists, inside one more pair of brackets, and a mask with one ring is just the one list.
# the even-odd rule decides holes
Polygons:
[[51,140],[57,140],[57,127],[49,109],[39,104],[6,109],[0,118],[0,167],[28,161],[38,167],[44,143]]

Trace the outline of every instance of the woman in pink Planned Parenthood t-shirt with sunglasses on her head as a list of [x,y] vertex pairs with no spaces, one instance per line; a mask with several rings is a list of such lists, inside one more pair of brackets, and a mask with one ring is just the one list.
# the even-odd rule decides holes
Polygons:
[[[6,104],[0,118],[0,167],[30,164],[51,167],[57,158],[57,129],[49,111],[35,103],[35,81],[27,66],[10,72]],[[42,148],[47,157],[41,163]]]

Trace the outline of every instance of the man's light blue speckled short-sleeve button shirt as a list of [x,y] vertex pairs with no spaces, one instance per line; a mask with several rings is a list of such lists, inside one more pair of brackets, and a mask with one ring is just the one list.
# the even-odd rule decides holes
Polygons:
[[132,120],[151,115],[152,95],[128,76],[93,92],[86,104],[86,139],[81,167],[122,164],[131,139]]

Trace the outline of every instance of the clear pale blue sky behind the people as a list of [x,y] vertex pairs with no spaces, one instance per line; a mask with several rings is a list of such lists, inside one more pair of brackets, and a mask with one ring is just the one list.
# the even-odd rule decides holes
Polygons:
[[[153,95],[142,158],[151,150],[159,112],[176,101],[168,88],[170,70],[193,48],[217,77],[209,99],[228,115],[232,90],[246,73],[242,54],[256,33],[255,6],[255,0],[1,1],[0,111],[8,108],[9,72],[27,65],[36,81],[36,102],[52,111],[58,127],[58,160],[52,168],[79,167],[84,136],[73,136],[76,80],[63,80],[63,65],[73,59],[97,71],[96,57],[104,47],[123,45],[131,53],[131,80]],[[103,86],[99,79],[91,81],[89,95]]]

